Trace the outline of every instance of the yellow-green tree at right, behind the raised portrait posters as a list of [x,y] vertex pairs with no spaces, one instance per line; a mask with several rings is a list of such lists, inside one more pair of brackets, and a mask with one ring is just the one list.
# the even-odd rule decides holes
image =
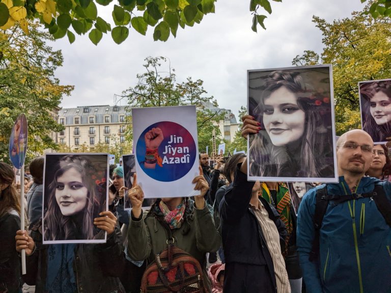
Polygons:
[[390,77],[391,19],[374,19],[372,7],[331,23],[314,16],[323,34],[323,52],[319,56],[307,50],[293,60],[293,65],[332,64],[337,135],[361,128],[358,82]]

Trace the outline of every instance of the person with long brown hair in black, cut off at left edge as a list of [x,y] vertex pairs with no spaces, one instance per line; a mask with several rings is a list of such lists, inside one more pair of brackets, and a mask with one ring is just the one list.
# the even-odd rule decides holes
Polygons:
[[13,181],[14,170],[0,162],[0,292],[21,293],[20,259],[15,234],[20,229],[20,201]]

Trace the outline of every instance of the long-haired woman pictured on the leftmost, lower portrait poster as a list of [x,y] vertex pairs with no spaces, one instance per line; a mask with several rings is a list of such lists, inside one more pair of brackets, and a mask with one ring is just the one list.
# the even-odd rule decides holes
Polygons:
[[94,218],[105,210],[106,187],[96,178],[97,170],[85,156],[61,158],[45,196],[45,241],[104,239],[104,231],[94,226]]

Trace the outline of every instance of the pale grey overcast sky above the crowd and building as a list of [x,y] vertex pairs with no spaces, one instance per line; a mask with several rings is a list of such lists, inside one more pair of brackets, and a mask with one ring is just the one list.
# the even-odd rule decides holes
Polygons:
[[[179,27],[177,38],[170,36],[166,42],[153,41],[152,27],[148,27],[147,36],[131,29],[120,45],[111,35],[103,35],[98,46],[91,43],[88,34],[76,35],[73,44],[67,37],[57,40],[52,46],[62,49],[64,65],[56,76],[61,84],[75,86],[61,106],[114,105],[115,94],[121,95],[136,84],[136,74],[144,72],[147,56],[165,56],[176,70],[177,82],[189,76],[204,80],[208,95],[237,116],[240,106],[247,103],[248,69],[289,67],[304,50],[321,52],[322,35],[312,16],[332,21],[364,7],[360,0],[284,0],[271,1],[271,5],[266,31],[258,26],[258,34],[251,30],[249,0],[219,0],[215,14],[185,30]],[[110,9],[100,8],[99,15],[113,23]],[[117,104],[125,105],[126,101]]]

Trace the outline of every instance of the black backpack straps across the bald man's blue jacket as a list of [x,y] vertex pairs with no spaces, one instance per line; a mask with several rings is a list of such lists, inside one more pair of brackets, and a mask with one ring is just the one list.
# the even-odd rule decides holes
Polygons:
[[312,249],[310,252],[310,261],[316,261],[319,256],[319,242],[320,242],[320,228],[322,227],[322,221],[324,214],[326,213],[328,202],[333,200],[333,206],[337,206],[339,203],[357,199],[372,197],[376,203],[376,207],[380,214],[384,217],[385,222],[391,227],[391,202],[385,196],[385,192],[381,185],[375,185],[372,192],[368,193],[352,193],[346,195],[328,195],[327,185],[316,191],[316,207],[314,214],[314,226],[315,226],[315,238],[312,242]]

